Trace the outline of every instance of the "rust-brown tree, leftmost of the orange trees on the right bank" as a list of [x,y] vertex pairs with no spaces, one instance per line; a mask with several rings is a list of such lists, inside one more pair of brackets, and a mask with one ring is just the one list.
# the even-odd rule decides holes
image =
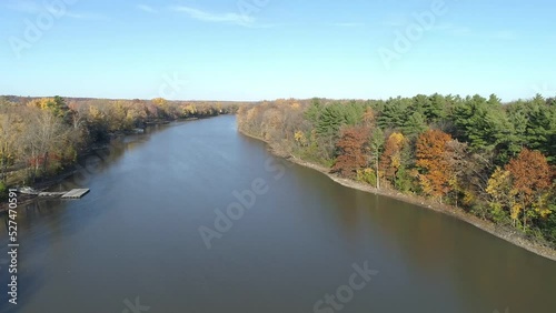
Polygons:
[[351,178],[356,171],[367,165],[365,145],[368,141],[369,130],[365,127],[345,128],[336,143],[339,155],[332,166],[332,172]]

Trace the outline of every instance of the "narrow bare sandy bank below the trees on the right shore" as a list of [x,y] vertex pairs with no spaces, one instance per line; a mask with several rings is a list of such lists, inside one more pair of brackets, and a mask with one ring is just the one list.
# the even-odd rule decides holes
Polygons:
[[463,209],[459,209],[459,208],[455,208],[455,206],[446,205],[446,204],[440,204],[440,203],[437,203],[437,202],[434,202],[434,201],[430,201],[428,199],[420,198],[420,196],[403,194],[403,193],[397,192],[395,190],[376,189],[369,184],[365,184],[365,183],[357,182],[357,181],[351,180],[351,179],[345,179],[345,178],[338,176],[337,174],[330,173],[330,169],[327,169],[322,165],[301,160],[299,158],[296,158],[294,155],[286,153],[285,151],[277,150],[275,147],[272,147],[272,144],[270,144],[264,138],[248,134],[241,130],[238,130],[238,131],[242,135],[246,135],[246,137],[265,142],[267,144],[267,147],[269,148],[270,152],[272,154],[275,154],[276,156],[284,158],[284,159],[286,159],[292,163],[296,163],[298,165],[319,171],[322,174],[327,175],[332,181],[335,181],[336,183],[339,183],[344,186],[360,190],[360,191],[368,192],[368,193],[374,193],[374,194],[378,194],[378,195],[393,198],[393,199],[396,199],[399,201],[404,201],[406,203],[415,204],[415,205],[418,205],[418,206],[421,206],[421,208],[425,208],[428,210],[433,210],[433,211],[438,212],[438,213],[443,213],[443,214],[453,216],[453,218],[458,219],[460,221],[467,222],[467,223],[469,223],[469,224],[471,224],[471,225],[474,225],[483,231],[486,231],[486,232],[488,232],[488,233],[490,233],[499,239],[503,239],[503,240],[505,240],[514,245],[523,248],[529,252],[533,252],[533,253],[540,255],[540,256],[544,256],[546,259],[556,261],[556,250],[554,250],[549,246],[542,245],[537,242],[534,242],[514,229],[504,228],[504,226],[497,225],[490,221],[481,220],[478,216],[473,215],[470,213],[467,213]]

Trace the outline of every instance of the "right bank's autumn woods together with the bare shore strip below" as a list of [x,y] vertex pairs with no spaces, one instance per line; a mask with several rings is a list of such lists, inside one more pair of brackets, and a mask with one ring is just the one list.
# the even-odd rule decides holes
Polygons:
[[[448,100],[455,103],[444,104],[446,105],[444,109],[439,108],[440,117],[436,122],[427,121],[425,109],[423,117],[416,117],[420,125],[415,123],[413,119],[415,114],[411,113],[423,110],[415,108],[415,100],[428,99],[430,101],[436,97],[438,95],[418,95],[414,99],[397,98],[387,101],[282,99],[258,107],[240,108],[238,131],[244,135],[266,142],[275,155],[319,171],[341,185],[447,214],[514,245],[556,261],[555,154],[549,150],[554,148],[550,144],[556,144],[554,141],[556,101],[539,99],[537,95],[527,101],[489,104],[488,100],[478,95],[465,99],[449,97]],[[490,101],[494,100],[493,98],[495,99],[492,97]],[[391,111],[399,110],[395,107],[404,101],[406,103],[401,105],[407,105],[405,108],[407,111],[400,110],[397,120],[388,124],[386,120],[393,118]],[[546,153],[548,158],[538,150],[529,151],[527,147],[534,148],[528,145],[532,144],[530,142],[526,144],[524,139],[517,147],[510,147],[513,143],[506,142],[503,149],[494,143],[488,149],[489,151],[480,151],[480,149],[473,151],[474,148],[468,141],[461,143],[457,140],[458,127],[453,120],[456,119],[454,112],[463,111],[468,105],[475,105],[475,109],[479,105],[492,105],[487,108],[487,112],[468,111],[466,122],[474,125],[466,129],[468,132],[480,130],[481,125],[484,128],[496,127],[480,124],[480,121],[474,120],[492,119],[489,114],[494,113],[496,114],[504,112],[509,115],[514,114],[512,111],[517,108],[522,110],[519,114],[526,117],[526,109],[535,110],[534,105],[537,105],[534,112],[546,114],[544,118],[548,122],[543,125],[544,130],[530,129],[528,132],[532,135],[539,135],[542,140],[548,139],[536,145],[537,149],[544,149],[545,153],[548,152]],[[538,110],[538,107],[542,107],[543,111]],[[443,114],[440,111],[446,113]],[[504,122],[507,115],[500,115]],[[526,125],[524,133],[527,132],[527,123],[542,122],[534,120],[538,118],[542,117],[529,117],[528,121],[524,121]],[[417,124],[414,130],[407,127],[413,122]],[[395,123],[401,125],[397,127]],[[327,129],[327,125],[330,129]],[[443,130],[453,132],[456,139],[450,138],[449,133]],[[517,142],[518,138],[512,138],[515,133],[508,133],[514,130],[515,125],[512,122],[505,124],[499,129],[504,133],[500,140],[506,138]],[[487,128],[483,131],[489,130]],[[544,131],[542,137],[540,131]],[[494,138],[485,137],[485,139],[484,144],[488,144],[488,140],[495,141]],[[525,158],[524,154],[528,158],[519,163],[519,159]],[[428,162],[420,160],[425,158]],[[476,164],[481,164],[481,166]],[[435,162],[439,164],[435,165]],[[396,169],[393,171],[391,168]],[[458,173],[457,170],[460,172]],[[449,173],[449,175],[443,180],[430,176],[431,172],[436,175],[443,173]],[[536,182],[536,180],[545,181],[528,185],[528,193],[520,193],[518,188],[523,182],[519,178],[513,176],[514,172],[522,174],[525,183]],[[378,182],[376,176],[379,178]],[[410,182],[401,183],[400,180]],[[435,182],[437,183],[436,193]],[[528,198],[529,194],[535,196]],[[527,198],[533,199],[532,202],[527,203]],[[529,208],[526,208],[527,205]],[[527,214],[525,222],[523,222],[523,214]],[[545,229],[539,230],[539,228]]]

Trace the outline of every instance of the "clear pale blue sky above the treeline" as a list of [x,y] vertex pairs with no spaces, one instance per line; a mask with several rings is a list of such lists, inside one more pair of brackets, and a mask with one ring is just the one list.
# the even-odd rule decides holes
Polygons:
[[[554,0],[435,2],[1,0],[0,94],[556,95]],[[410,47],[396,49],[408,31]]]

